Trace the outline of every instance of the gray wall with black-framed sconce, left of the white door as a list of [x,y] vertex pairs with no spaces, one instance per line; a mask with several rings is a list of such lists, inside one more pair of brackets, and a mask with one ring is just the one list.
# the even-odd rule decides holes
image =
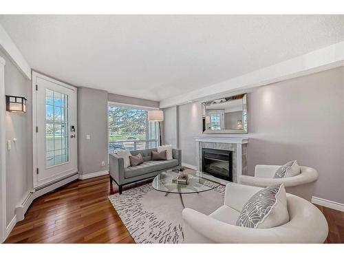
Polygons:
[[[32,188],[32,91],[31,81],[19,72],[10,58],[0,51],[6,60],[5,94],[28,98],[27,113],[6,112],[6,141],[11,140],[12,149],[6,149],[6,220],[14,217],[16,206]],[[13,142],[17,138],[17,142]]]

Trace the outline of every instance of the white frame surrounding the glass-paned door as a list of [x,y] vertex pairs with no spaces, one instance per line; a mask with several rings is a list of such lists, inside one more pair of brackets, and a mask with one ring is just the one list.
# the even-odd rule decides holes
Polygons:
[[[34,186],[34,189],[41,189],[42,187],[44,187],[43,185],[36,185],[36,168],[37,168],[37,156],[38,156],[38,148],[37,148],[37,133],[36,133],[36,126],[37,126],[37,95],[36,95],[36,81],[37,78],[43,78],[44,80],[48,80],[52,83],[56,83],[58,85],[61,85],[62,87],[66,87],[68,89],[73,89],[74,91],[76,91],[76,129],[78,129],[78,111],[77,111],[77,101],[78,101],[78,92],[77,92],[77,88],[72,86],[72,85],[68,85],[66,83],[61,82],[60,80],[56,80],[54,78],[51,78],[49,76],[45,76],[44,74],[40,74],[39,72],[35,72],[32,71],[32,183]],[[78,139],[78,133],[76,133],[76,139]],[[76,151],[78,153],[78,143],[76,143]],[[76,155],[76,171],[72,171],[70,174],[74,174],[76,172],[78,172],[78,155]],[[56,180],[54,180],[53,182],[55,182]],[[51,185],[51,183],[47,183],[48,185]]]

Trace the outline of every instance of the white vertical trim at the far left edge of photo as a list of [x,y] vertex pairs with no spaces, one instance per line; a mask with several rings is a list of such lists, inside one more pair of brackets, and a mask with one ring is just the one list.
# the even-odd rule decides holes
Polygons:
[[0,56],[0,243],[7,237],[6,222],[6,104],[5,104],[5,65],[6,61]]

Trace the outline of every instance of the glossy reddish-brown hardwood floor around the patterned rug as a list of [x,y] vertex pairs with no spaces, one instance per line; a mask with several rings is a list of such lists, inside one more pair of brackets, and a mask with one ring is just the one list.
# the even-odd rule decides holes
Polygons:
[[[110,186],[105,175],[77,180],[47,193],[32,202],[6,243],[135,243],[107,198],[117,192],[117,186]],[[326,242],[344,243],[344,213],[318,208],[330,228]]]

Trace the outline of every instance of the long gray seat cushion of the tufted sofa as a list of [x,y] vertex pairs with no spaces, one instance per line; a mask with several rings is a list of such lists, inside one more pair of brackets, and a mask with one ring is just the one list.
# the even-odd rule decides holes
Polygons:
[[144,175],[154,171],[163,169],[170,169],[173,166],[178,166],[178,160],[150,160],[145,161],[138,166],[129,166],[125,169],[125,178],[133,178],[138,175]]

